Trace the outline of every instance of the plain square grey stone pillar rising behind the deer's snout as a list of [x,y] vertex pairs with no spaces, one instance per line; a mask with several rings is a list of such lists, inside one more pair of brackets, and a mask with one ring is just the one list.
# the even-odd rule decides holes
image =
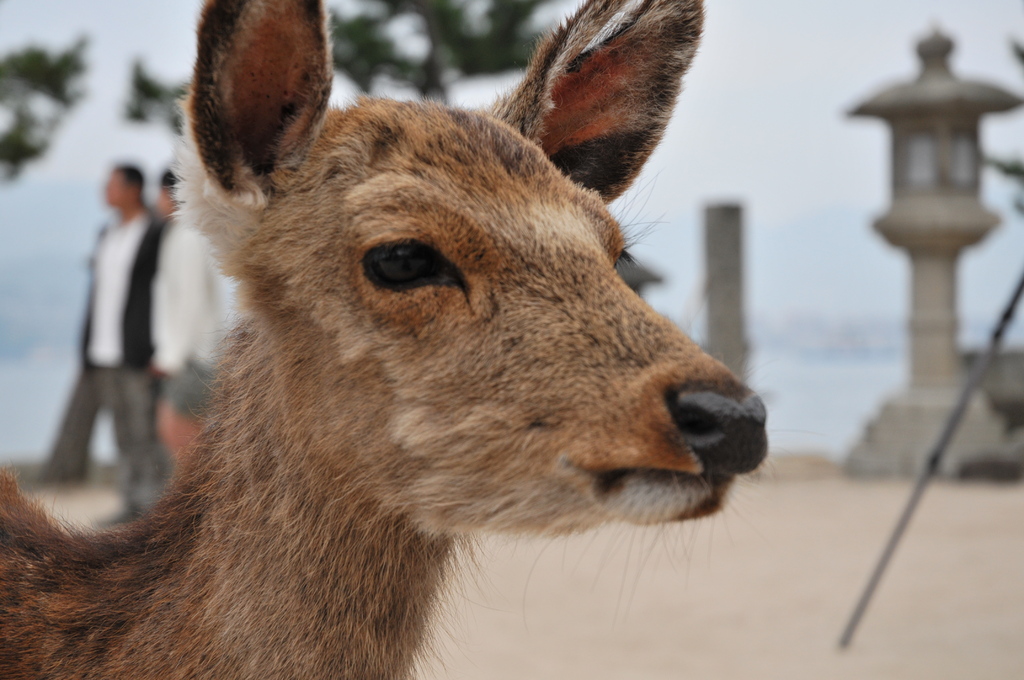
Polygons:
[[741,380],[746,377],[743,313],[743,212],[735,204],[705,209],[708,352]]

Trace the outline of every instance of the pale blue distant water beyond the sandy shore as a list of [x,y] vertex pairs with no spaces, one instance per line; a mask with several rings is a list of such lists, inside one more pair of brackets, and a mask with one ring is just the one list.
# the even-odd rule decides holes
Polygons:
[[[0,359],[0,464],[46,458],[77,370],[74,356]],[[750,382],[768,405],[773,453],[839,460],[902,379],[896,352],[766,350],[755,355]],[[99,460],[114,460],[113,441],[103,419],[93,441]]]

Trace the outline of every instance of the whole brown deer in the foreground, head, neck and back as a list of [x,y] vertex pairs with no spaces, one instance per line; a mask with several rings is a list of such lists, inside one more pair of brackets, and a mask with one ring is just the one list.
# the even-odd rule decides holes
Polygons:
[[485,533],[719,510],[761,399],[616,274],[700,0],[587,0],[485,111],[332,91],[319,0],[208,0],[181,219],[244,309],[155,508],[0,476],[0,676],[411,677]]

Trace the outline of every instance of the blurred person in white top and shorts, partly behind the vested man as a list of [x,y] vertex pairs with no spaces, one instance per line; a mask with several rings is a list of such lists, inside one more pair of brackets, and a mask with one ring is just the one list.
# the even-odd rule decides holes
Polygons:
[[175,459],[202,429],[223,337],[221,282],[210,244],[174,218],[174,173],[161,181],[157,213],[166,219],[154,286],[154,373],[162,378],[157,431]]

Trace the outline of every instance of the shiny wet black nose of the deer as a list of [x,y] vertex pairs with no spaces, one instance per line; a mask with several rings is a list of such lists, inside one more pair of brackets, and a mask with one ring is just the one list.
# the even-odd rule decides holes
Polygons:
[[668,401],[676,428],[706,471],[742,474],[765,459],[767,413],[756,394],[737,401],[715,392],[674,390]]

